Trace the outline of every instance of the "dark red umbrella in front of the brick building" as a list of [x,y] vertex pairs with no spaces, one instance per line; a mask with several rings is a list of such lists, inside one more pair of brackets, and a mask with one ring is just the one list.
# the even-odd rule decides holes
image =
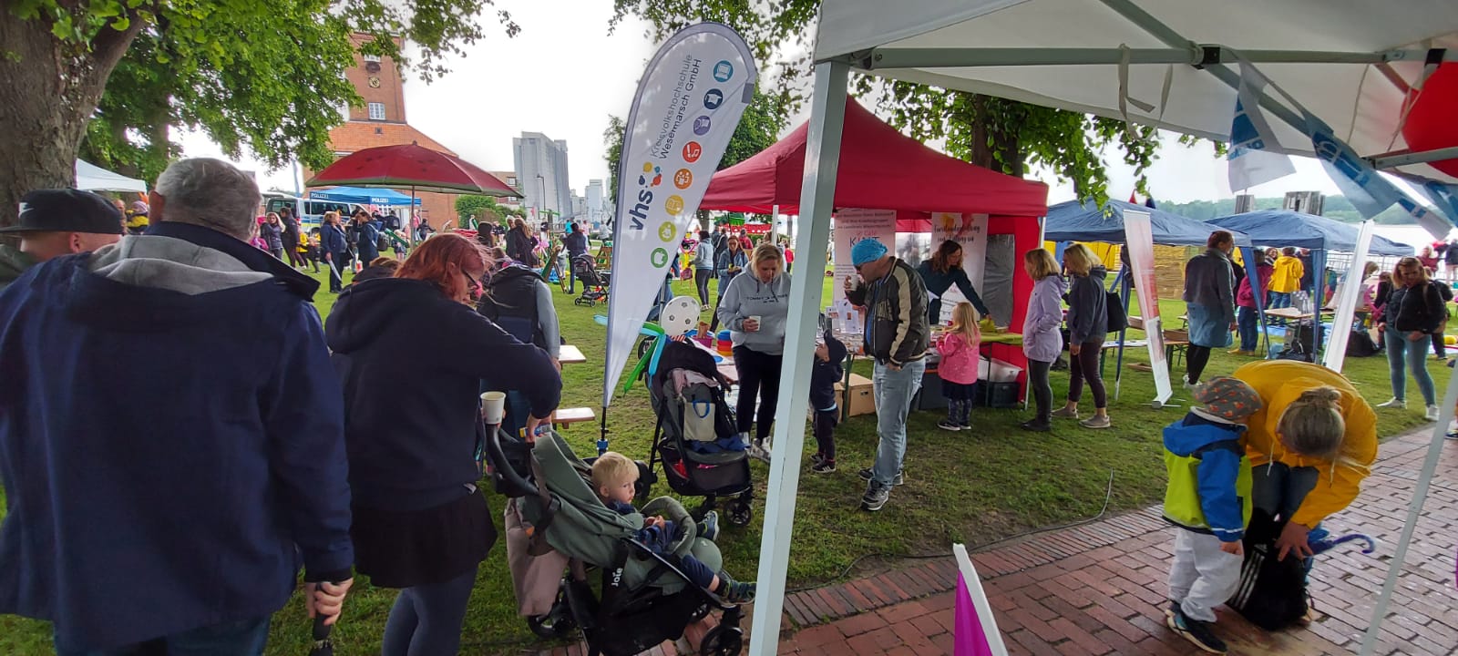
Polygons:
[[521,198],[500,178],[461,157],[420,144],[381,146],[346,155],[305,182],[305,187],[410,187],[443,194]]

